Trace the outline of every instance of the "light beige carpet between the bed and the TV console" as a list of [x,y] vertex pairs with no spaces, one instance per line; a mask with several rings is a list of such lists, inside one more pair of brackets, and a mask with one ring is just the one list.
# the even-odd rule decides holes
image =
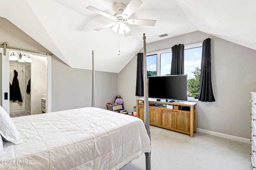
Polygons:
[[[251,145],[194,133],[150,126],[152,170],[252,170]],[[121,170],[145,170],[145,154]]]

